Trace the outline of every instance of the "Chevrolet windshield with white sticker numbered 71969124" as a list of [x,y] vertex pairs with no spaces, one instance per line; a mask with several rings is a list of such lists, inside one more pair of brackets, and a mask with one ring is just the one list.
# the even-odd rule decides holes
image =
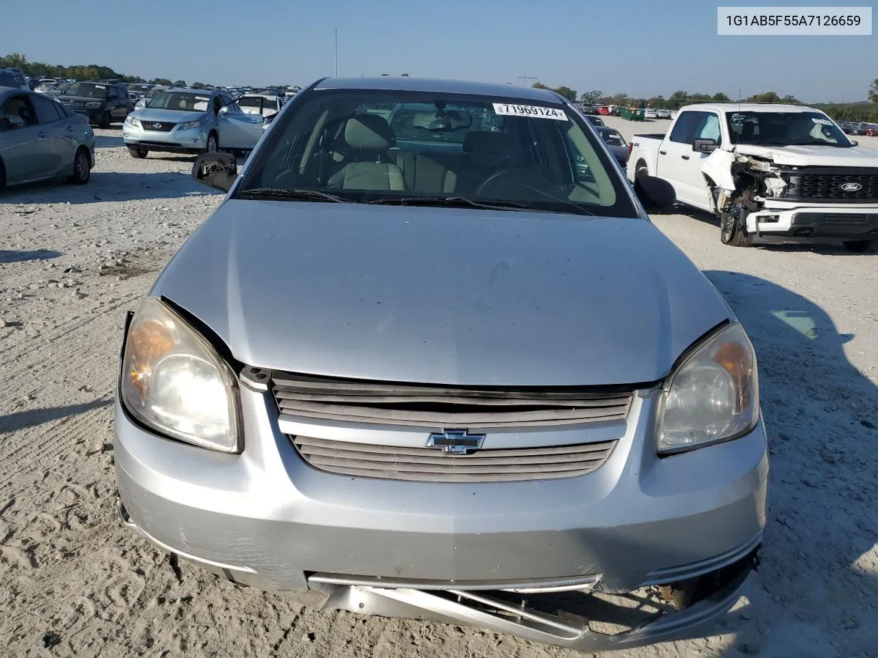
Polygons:
[[276,123],[239,194],[307,190],[400,204],[465,197],[537,211],[637,217],[626,183],[589,132],[561,104],[317,91]]

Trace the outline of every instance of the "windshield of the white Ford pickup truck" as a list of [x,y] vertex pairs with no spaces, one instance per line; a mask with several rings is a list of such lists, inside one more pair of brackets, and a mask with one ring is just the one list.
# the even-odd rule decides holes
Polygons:
[[852,147],[823,112],[726,112],[733,144]]

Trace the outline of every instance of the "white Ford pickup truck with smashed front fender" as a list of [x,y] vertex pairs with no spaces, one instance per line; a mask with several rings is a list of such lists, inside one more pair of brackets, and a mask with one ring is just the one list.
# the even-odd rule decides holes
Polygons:
[[630,181],[641,172],[670,182],[679,203],[716,213],[725,244],[777,235],[878,247],[878,151],[809,107],[687,105],[666,134],[632,138]]

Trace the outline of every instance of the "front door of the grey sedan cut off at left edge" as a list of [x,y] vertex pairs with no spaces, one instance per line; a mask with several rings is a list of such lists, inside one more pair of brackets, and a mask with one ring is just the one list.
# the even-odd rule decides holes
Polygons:
[[[46,176],[49,143],[40,130],[31,94],[11,94],[0,106],[0,155],[6,169],[6,182],[25,182]],[[10,117],[20,125],[11,125]],[[43,136],[40,136],[42,133]]]

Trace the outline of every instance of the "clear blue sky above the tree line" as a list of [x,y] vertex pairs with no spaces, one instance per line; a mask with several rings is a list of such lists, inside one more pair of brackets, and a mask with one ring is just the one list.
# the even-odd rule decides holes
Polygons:
[[865,99],[878,77],[876,36],[719,37],[717,4],[733,3],[40,0],[4,3],[0,48],[148,78],[305,85],[335,74],[337,28],[339,75],[515,84],[535,76],[580,92],[737,97],[738,89],[745,96],[774,90],[811,102]]

